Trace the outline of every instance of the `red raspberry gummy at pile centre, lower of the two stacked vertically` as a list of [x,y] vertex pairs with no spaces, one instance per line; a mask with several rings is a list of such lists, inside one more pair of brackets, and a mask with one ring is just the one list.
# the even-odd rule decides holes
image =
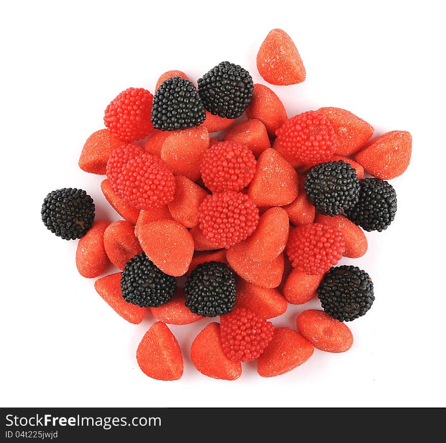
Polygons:
[[249,237],[258,218],[257,206],[241,192],[210,195],[198,208],[200,229],[215,249],[228,249]]

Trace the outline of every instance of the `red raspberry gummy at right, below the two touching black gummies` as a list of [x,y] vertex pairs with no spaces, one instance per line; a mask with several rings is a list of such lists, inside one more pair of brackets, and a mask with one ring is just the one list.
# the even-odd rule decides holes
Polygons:
[[345,244],[338,229],[309,223],[291,231],[286,249],[294,268],[316,275],[325,273],[339,262]]

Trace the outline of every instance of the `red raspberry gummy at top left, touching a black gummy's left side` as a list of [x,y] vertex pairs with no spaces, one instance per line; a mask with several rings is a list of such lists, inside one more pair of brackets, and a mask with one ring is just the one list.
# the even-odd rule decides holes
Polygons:
[[152,100],[153,95],[143,88],[126,89],[105,109],[105,126],[123,141],[146,137],[154,130],[151,123]]

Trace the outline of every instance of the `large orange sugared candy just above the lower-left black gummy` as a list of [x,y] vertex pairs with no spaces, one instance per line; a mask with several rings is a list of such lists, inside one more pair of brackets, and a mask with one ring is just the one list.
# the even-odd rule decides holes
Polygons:
[[147,257],[161,271],[174,277],[187,272],[194,253],[189,231],[173,220],[159,220],[139,229],[139,243]]

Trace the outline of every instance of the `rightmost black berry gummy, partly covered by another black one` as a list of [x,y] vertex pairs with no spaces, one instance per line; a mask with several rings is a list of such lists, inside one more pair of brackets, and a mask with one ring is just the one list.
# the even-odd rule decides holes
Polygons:
[[396,214],[396,192],[381,178],[359,181],[359,200],[346,209],[347,217],[365,231],[384,231]]

